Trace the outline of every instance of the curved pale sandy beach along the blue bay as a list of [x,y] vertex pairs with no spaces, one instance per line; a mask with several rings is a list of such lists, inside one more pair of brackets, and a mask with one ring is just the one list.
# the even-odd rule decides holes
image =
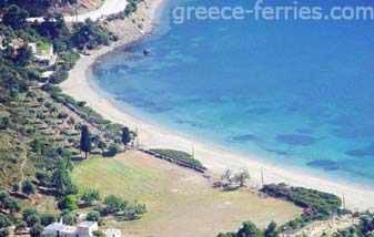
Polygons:
[[[135,41],[146,37],[145,32],[154,29],[158,10],[166,0],[145,1],[139,4],[139,10],[128,19],[117,22],[108,22],[105,27],[119,34],[120,40],[110,47],[103,47],[90,52],[88,56],[78,60],[75,66],[69,72],[69,78],[60,84],[63,93],[78,101],[85,101],[104,118],[115,123],[135,127],[139,131],[139,142],[143,148],[174,148],[191,152],[194,144],[195,157],[209,168],[213,174],[222,174],[224,169],[237,171],[245,167],[251,174],[251,185],[260,186],[261,171],[264,171],[265,183],[287,183],[294,186],[310,187],[327,193],[333,193],[340,197],[345,196],[346,207],[352,210],[374,210],[374,188],[351,184],[347,182],[326,179],[297,171],[296,168],[282,167],[281,165],[270,164],[259,157],[241,155],[210,144],[204,141],[191,138],[179,134],[159,124],[149,123],[113,103],[105,93],[90,83],[92,76],[91,66],[100,58],[115,49],[124,48]],[[140,22],[140,23],[139,23]],[[139,24],[142,24],[140,28]]]

